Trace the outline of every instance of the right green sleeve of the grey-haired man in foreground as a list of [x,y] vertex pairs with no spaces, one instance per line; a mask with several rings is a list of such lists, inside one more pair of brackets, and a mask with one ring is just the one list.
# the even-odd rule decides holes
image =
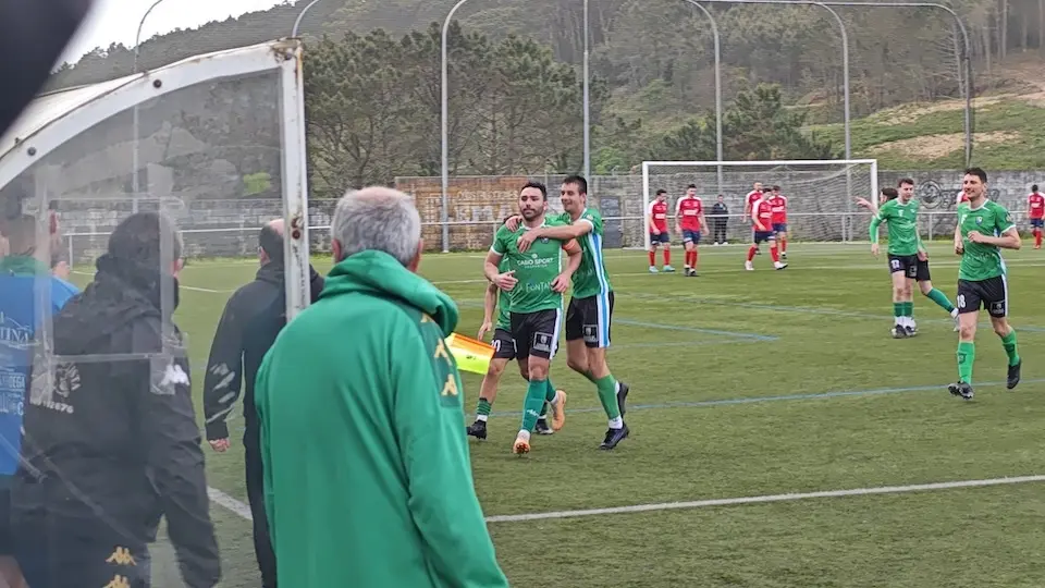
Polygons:
[[392,333],[393,427],[409,485],[407,506],[429,562],[447,586],[506,587],[476,497],[462,427],[464,390],[443,333],[432,322],[407,319]]

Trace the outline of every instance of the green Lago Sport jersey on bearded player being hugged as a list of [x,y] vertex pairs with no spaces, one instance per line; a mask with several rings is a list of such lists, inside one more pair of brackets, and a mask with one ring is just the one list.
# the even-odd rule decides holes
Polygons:
[[[557,218],[545,218],[542,226],[562,226]],[[526,253],[519,253],[519,235],[528,231],[519,223],[515,231],[507,226],[497,230],[493,237],[493,253],[502,255],[507,270],[515,270],[518,283],[507,292],[508,310],[519,315],[538,310],[563,308],[563,295],[552,290],[552,281],[563,271],[563,242],[557,238],[538,238]]]

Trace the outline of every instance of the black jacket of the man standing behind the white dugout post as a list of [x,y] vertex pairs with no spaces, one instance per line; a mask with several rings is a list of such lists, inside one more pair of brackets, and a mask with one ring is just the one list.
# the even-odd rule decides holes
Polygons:
[[[214,341],[207,360],[204,379],[204,415],[207,419],[207,439],[229,438],[225,419],[236,406],[239,389],[244,388],[244,439],[249,442],[258,436],[258,411],[254,404],[254,383],[261,368],[261,359],[286,324],[286,291],[283,266],[269,262],[258,270],[254,281],[237,290],[221,315]],[[309,268],[311,299],[316,302],[323,290],[323,278]]]

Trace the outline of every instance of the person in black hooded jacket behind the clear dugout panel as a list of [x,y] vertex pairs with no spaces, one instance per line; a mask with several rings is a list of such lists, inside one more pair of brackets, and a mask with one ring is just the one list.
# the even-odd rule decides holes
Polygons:
[[165,217],[132,215],[97,267],[54,318],[53,356],[34,363],[12,489],[16,560],[34,588],[147,588],[164,517],[185,585],[211,588],[218,544],[171,320],[180,237]]

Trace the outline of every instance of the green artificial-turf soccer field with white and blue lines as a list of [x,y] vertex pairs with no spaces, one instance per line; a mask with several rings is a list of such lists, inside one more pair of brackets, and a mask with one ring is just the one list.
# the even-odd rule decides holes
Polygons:
[[[529,455],[512,455],[525,387],[506,371],[490,439],[469,441],[512,584],[1045,586],[1045,486],[1033,477],[1045,474],[1042,252],[1007,255],[1022,383],[1005,389],[1005,353],[983,315],[976,397],[963,402],[946,390],[957,378],[957,333],[941,308],[915,294],[920,335],[889,336],[884,255],[796,244],[787,270],[772,270],[765,250],[746,272],[745,250],[703,247],[700,278],[651,275],[644,253],[607,252],[616,291],[610,365],[631,385],[631,436],[617,450],[598,449],[605,417],[564,353],[551,377],[569,394],[566,427],[534,436]],[[947,244],[930,250],[934,283],[954,299],[957,258]],[[673,254],[680,269],[681,249]],[[460,306],[458,331],[469,335],[482,314],[481,264],[481,254],[422,261],[422,273]],[[316,265],[325,271],[329,260]],[[184,271],[177,320],[189,334],[197,393],[224,302],[255,270],[255,261],[222,260]],[[479,381],[465,376],[469,413]],[[234,441],[223,455],[207,448],[209,483],[245,501]],[[998,480],[1008,477],[1032,478]],[[920,487],[972,480],[992,481]],[[852,492],[829,493],[843,490]],[[801,495],[820,492],[828,493]],[[232,505],[212,507],[222,586],[258,586],[249,522]],[[576,512],[602,509],[610,511]],[[542,513],[551,514],[503,516]],[[169,548],[157,552],[157,586],[180,586]]]

